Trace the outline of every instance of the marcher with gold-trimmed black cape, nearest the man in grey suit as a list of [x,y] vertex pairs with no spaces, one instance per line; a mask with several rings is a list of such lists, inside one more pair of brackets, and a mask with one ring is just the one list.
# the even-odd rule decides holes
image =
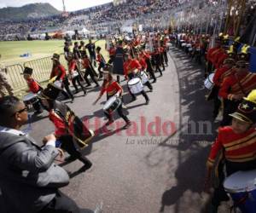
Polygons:
[[70,154],[68,160],[79,159],[84,163],[81,171],[89,170],[92,164],[79,152],[79,148],[88,146],[87,143],[94,136],[94,132],[88,130],[65,103],[55,101],[56,96],[50,86],[39,95],[44,107],[49,111],[49,120],[55,125],[55,147],[66,150]]

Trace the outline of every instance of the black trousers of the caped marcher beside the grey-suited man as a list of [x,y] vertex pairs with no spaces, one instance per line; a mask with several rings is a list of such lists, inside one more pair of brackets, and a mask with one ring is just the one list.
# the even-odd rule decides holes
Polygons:
[[62,135],[58,141],[61,141],[61,148],[66,150],[67,153],[75,160],[79,159],[82,163],[88,165],[91,164],[90,160],[84,157],[73,144],[72,135]]

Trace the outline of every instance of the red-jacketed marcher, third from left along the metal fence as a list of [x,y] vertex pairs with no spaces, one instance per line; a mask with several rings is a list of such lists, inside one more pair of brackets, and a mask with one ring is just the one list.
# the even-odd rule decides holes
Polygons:
[[79,83],[79,86],[84,91],[84,95],[87,95],[87,90],[84,88],[83,84],[80,82],[80,76],[79,76],[79,72],[78,72],[79,69],[78,69],[78,66],[77,66],[77,61],[74,59],[72,53],[67,55],[67,66],[68,66],[68,72],[69,72],[70,78],[71,78],[72,83],[73,83],[73,87],[76,90],[75,93],[79,93],[79,89],[78,89],[78,86],[77,86],[77,83]]

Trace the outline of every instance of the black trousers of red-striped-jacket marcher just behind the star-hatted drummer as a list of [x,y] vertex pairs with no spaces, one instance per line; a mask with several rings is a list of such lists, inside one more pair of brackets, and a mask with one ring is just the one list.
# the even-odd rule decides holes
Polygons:
[[221,126],[227,126],[230,125],[232,117],[230,117],[230,114],[233,112],[236,112],[236,109],[241,101],[230,101],[227,99],[224,99],[224,111],[223,111],[223,119],[220,123]]

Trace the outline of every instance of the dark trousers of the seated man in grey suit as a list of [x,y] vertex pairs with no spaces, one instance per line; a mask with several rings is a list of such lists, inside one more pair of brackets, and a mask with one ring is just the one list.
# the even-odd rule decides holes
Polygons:
[[82,211],[73,199],[58,190],[55,198],[38,213],[82,213]]

